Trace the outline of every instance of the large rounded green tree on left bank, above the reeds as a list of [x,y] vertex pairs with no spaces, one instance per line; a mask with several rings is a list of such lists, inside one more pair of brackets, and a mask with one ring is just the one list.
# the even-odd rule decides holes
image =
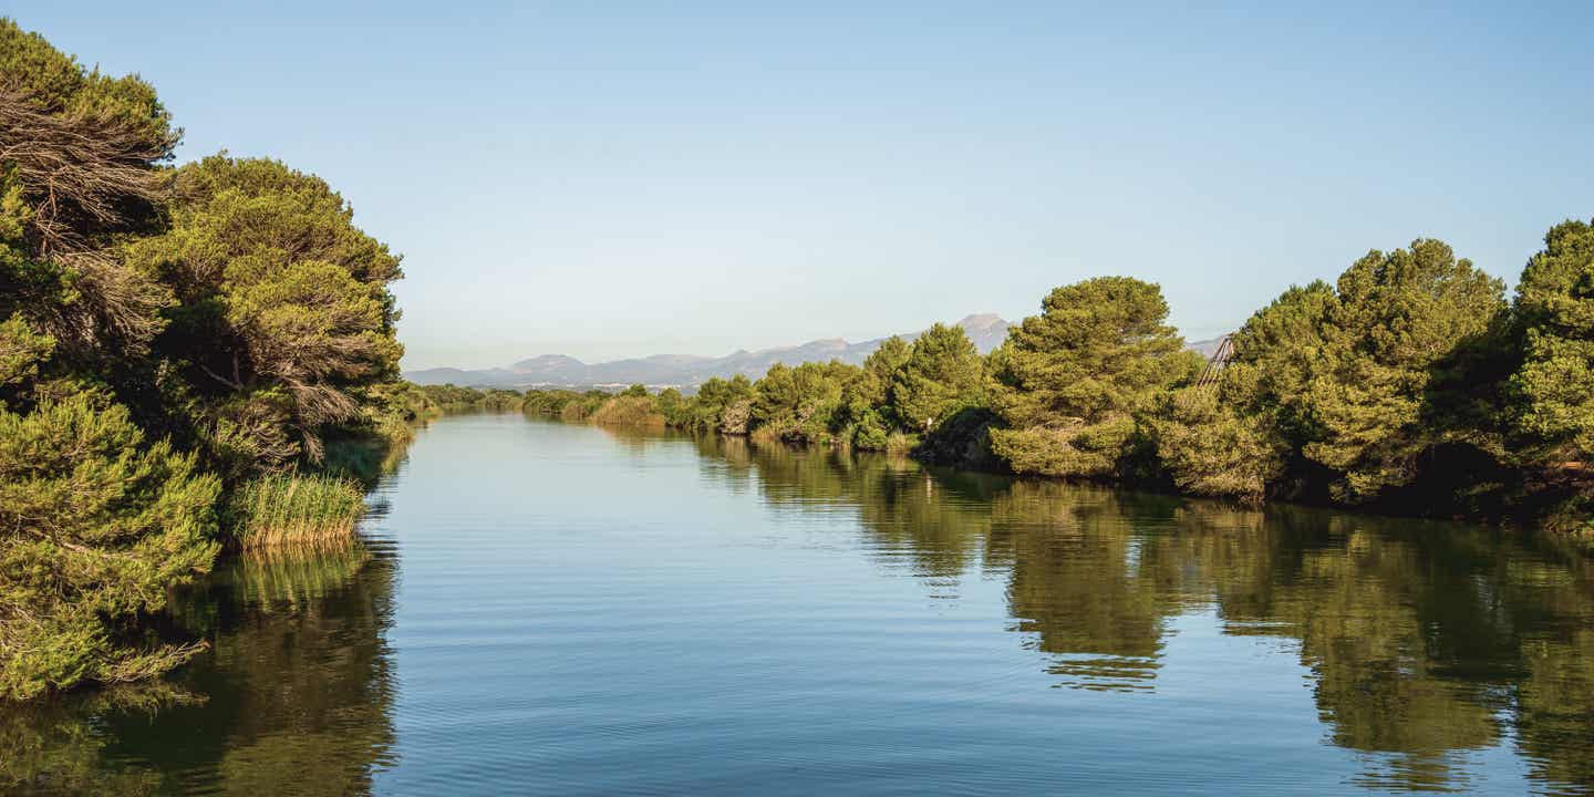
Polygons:
[[177,191],[171,230],[129,249],[179,300],[158,351],[210,398],[218,434],[271,419],[253,424],[258,465],[319,461],[325,427],[360,419],[362,387],[397,376],[398,258],[325,182],[277,161],[210,156],[179,169]]

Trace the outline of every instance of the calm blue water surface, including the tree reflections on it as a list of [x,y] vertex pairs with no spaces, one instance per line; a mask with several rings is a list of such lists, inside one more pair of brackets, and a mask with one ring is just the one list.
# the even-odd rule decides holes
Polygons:
[[373,501],[0,714],[0,791],[1594,791],[1594,567],[1484,529],[520,416]]

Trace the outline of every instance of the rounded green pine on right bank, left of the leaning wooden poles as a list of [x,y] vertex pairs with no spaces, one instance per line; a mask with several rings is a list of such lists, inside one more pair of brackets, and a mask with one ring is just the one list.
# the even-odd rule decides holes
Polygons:
[[1109,477],[1133,448],[1135,413],[1186,376],[1162,290],[1097,277],[1054,290],[990,357],[987,394],[1007,429],[991,450],[1020,473]]

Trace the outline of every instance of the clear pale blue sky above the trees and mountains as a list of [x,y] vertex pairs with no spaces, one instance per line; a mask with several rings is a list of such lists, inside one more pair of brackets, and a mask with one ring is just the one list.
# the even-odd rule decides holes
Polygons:
[[1594,3],[1189,5],[0,10],[155,83],[182,159],[343,191],[405,255],[406,368],[1017,319],[1098,274],[1205,338],[1369,249],[1511,281],[1594,217]]

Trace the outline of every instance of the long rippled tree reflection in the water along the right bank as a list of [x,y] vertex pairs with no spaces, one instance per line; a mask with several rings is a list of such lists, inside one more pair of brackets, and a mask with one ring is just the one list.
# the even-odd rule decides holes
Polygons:
[[775,507],[850,507],[870,555],[932,595],[1006,579],[1011,628],[1062,685],[1154,690],[1170,620],[1211,612],[1224,634],[1296,652],[1328,738],[1364,757],[1358,783],[1465,789],[1459,765],[1508,740],[1537,779],[1594,787],[1594,566],[1575,552],[1454,523],[698,446],[705,477],[751,472]]

